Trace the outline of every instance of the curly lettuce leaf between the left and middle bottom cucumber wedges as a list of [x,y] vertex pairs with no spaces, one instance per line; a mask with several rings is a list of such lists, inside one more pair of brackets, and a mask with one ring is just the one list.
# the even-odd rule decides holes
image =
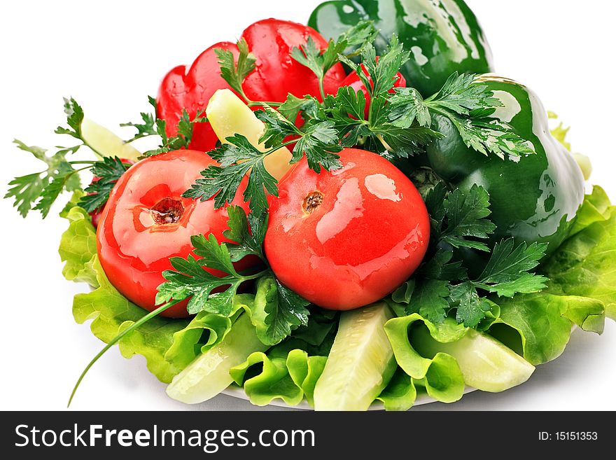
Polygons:
[[254,405],[267,405],[276,398],[288,405],[297,405],[304,396],[312,404],[314,386],[325,368],[325,361],[325,356],[308,356],[300,349],[288,354],[256,352],[230,373],[236,384],[244,386]]

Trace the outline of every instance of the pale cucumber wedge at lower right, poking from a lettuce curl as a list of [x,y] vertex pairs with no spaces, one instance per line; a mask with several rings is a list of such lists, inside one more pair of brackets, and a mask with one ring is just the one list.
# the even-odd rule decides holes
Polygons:
[[443,352],[456,358],[465,384],[483,391],[498,393],[510,389],[526,382],[535,370],[519,354],[474,329],[455,342],[441,343],[423,326],[413,329],[410,339],[414,349],[423,356]]

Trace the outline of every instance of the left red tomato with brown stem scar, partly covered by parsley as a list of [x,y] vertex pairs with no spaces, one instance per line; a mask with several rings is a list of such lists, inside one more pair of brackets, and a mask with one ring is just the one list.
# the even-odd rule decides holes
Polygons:
[[[165,281],[162,272],[172,270],[170,257],[186,258],[192,253],[191,235],[212,233],[219,242],[229,241],[223,237],[228,221],[225,209],[214,209],[212,200],[181,196],[213,164],[203,152],[163,153],[135,163],[111,191],[97,229],[97,251],[111,284],[139,307],[155,309],[157,288]],[[232,204],[248,212],[241,196],[246,181]],[[186,302],[162,316],[188,316]]]

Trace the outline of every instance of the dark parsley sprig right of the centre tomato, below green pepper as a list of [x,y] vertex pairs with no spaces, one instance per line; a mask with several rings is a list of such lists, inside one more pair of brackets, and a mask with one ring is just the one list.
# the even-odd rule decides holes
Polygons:
[[[425,196],[430,214],[433,256],[428,256],[412,279],[392,294],[406,304],[407,314],[419,313],[440,323],[452,311],[458,323],[475,327],[491,309],[487,295],[513,297],[545,288],[547,278],[531,272],[545,256],[545,243],[515,244],[512,238],[494,244],[477,277],[469,277],[459,248],[490,251],[486,242],[495,230],[489,221],[489,194],[481,186],[452,191],[437,183]],[[454,255],[458,260],[454,260]]]

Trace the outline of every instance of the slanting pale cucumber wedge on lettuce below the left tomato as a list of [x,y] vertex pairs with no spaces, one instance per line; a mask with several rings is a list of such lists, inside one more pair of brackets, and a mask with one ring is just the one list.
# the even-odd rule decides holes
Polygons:
[[187,404],[214,398],[233,382],[230,368],[246,361],[253,352],[268,348],[258,339],[250,316],[241,314],[221,343],[197,356],[174,377],[167,386],[167,394]]

